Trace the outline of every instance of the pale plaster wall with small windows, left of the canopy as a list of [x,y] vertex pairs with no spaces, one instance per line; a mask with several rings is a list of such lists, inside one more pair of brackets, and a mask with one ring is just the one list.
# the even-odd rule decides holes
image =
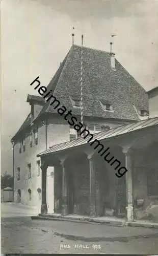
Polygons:
[[[15,144],[15,202],[18,202],[17,190],[21,189],[21,203],[40,208],[39,194],[37,188],[41,188],[41,175],[37,176],[37,160],[36,155],[45,150],[45,125],[38,128],[38,144],[30,147],[30,136],[25,138],[25,152],[19,153],[19,143]],[[31,163],[32,177],[28,179],[28,163]],[[20,167],[20,180],[17,181],[17,167]],[[32,200],[29,201],[28,189],[32,190]]]

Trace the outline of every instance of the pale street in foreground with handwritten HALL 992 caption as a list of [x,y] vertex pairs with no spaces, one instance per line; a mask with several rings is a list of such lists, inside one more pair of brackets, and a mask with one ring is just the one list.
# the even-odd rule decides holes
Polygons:
[[2,253],[158,252],[158,229],[155,228],[32,220],[29,207],[14,203],[1,204],[1,216]]

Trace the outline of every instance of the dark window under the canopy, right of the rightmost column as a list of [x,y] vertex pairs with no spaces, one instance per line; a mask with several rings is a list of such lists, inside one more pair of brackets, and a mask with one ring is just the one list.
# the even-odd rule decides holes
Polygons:
[[147,185],[148,185],[148,196],[158,196],[157,169],[150,169],[150,171],[147,173]]

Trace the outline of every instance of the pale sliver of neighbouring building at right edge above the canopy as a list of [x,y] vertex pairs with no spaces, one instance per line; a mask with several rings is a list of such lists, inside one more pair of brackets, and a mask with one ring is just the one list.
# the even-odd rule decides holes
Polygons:
[[151,89],[147,94],[149,98],[150,117],[158,116],[158,87]]

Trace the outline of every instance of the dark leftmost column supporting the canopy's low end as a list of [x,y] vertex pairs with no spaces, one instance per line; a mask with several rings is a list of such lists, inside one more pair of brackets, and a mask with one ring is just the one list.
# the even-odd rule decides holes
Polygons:
[[47,165],[41,165],[42,170],[42,204],[41,214],[47,214],[47,202],[46,202],[46,178],[47,178]]

